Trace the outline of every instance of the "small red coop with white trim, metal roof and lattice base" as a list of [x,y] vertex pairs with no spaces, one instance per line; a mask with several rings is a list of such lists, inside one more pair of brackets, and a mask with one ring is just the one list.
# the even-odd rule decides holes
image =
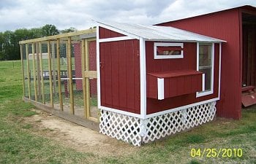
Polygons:
[[172,27],[99,23],[100,132],[140,145],[213,120],[222,42]]

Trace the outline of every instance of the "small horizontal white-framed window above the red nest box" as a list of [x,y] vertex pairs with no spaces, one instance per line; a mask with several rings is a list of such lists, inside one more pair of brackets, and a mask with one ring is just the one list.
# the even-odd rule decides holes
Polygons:
[[183,43],[154,43],[154,59],[183,58]]

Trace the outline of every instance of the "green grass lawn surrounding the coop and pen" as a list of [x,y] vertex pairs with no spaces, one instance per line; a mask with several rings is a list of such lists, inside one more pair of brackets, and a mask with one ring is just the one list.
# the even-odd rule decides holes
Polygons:
[[[34,106],[21,100],[21,85],[20,62],[0,61],[0,163],[197,164],[256,161],[256,106],[243,110],[241,120],[218,119],[146,144],[138,151],[133,152],[131,149],[129,155],[124,152],[124,155],[99,156],[93,152],[79,152],[33,133],[38,130],[37,127],[22,120],[37,113],[31,110]],[[45,133],[48,131],[45,129]],[[191,157],[193,148],[241,148],[243,156]]]

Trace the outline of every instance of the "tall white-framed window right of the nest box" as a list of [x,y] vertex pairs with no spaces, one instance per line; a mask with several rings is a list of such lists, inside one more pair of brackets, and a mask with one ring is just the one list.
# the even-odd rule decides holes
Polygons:
[[213,93],[214,44],[197,43],[197,71],[203,72],[203,91],[197,97]]

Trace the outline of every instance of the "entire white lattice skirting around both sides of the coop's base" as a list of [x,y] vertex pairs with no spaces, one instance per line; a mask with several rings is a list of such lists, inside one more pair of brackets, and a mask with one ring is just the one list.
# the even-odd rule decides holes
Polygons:
[[216,101],[142,120],[100,110],[99,132],[135,146],[209,122],[216,114]]

